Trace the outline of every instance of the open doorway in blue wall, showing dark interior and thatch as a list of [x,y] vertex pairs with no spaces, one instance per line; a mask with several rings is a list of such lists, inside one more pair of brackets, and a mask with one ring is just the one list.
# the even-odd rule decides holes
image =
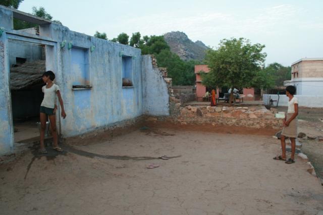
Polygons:
[[15,142],[39,139],[39,108],[43,99],[41,77],[46,71],[50,45],[8,39],[11,106]]

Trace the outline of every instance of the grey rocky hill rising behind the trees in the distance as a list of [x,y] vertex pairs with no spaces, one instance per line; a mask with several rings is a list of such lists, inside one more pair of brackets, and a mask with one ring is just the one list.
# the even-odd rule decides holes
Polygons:
[[184,61],[203,60],[205,50],[208,49],[202,41],[193,42],[184,32],[172,31],[166,33],[164,38],[171,47],[171,51],[177,53]]

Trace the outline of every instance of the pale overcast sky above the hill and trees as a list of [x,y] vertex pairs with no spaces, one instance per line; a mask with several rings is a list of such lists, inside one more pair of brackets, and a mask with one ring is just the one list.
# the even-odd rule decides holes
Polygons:
[[42,6],[71,30],[109,39],[125,32],[161,35],[183,31],[193,41],[217,47],[230,37],[266,45],[266,64],[284,66],[323,57],[323,1],[217,0],[24,0],[19,10]]

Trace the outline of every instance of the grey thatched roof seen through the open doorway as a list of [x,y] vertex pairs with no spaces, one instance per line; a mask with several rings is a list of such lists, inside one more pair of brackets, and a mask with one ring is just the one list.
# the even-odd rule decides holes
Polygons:
[[46,71],[45,61],[26,62],[10,69],[10,85],[12,90],[30,88],[41,83],[41,76]]

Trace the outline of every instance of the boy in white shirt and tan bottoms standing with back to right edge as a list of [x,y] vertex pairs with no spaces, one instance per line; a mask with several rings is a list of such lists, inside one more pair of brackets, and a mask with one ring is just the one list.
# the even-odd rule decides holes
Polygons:
[[281,144],[282,144],[282,155],[274,157],[276,160],[286,160],[286,143],[285,138],[289,137],[292,144],[292,154],[291,157],[286,160],[286,164],[295,163],[295,147],[296,147],[296,137],[297,137],[297,115],[298,115],[298,99],[294,97],[296,88],[294,86],[286,87],[286,96],[288,96],[288,111],[284,119],[284,128],[281,134]]

